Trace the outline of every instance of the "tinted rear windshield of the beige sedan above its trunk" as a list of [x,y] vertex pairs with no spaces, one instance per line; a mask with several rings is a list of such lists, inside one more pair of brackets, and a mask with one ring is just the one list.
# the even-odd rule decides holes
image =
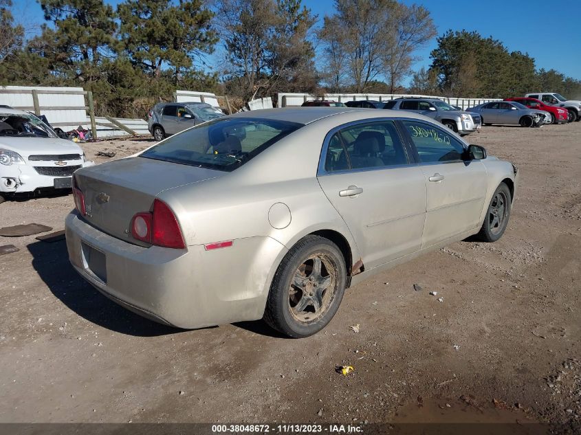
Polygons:
[[140,157],[230,172],[302,126],[259,118],[221,118],[173,135]]

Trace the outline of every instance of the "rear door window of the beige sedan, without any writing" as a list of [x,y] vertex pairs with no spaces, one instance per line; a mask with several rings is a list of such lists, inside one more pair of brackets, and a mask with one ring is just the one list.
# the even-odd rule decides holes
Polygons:
[[408,164],[393,121],[346,127],[329,140],[325,170],[357,170]]

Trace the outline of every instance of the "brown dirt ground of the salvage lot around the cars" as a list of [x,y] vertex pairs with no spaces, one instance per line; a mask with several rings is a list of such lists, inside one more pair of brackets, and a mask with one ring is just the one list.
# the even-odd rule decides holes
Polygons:
[[[469,138],[520,170],[501,241],[456,243],[351,288],[307,339],[263,322],[155,324],[82,280],[64,241],[0,237],[20,248],[0,256],[0,422],[538,421],[579,433],[581,122]],[[121,157],[153,143],[83,148]],[[71,195],[7,201],[0,226],[62,230],[72,207]]]

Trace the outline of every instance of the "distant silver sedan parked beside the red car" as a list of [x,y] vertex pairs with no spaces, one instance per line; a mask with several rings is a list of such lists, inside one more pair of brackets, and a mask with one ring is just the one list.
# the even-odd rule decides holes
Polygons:
[[546,124],[547,115],[545,111],[529,109],[514,101],[485,102],[466,111],[478,113],[483,125],[517,124],[523,127]]

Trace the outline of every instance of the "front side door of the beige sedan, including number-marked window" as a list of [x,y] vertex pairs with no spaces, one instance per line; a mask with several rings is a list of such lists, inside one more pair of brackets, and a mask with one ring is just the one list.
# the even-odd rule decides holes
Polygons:
[[453,133],[417,120],[403,120],[426,184],[426,224],[421,247],[481,225],[487,177],[479,160],[463,161],[463,144]]

